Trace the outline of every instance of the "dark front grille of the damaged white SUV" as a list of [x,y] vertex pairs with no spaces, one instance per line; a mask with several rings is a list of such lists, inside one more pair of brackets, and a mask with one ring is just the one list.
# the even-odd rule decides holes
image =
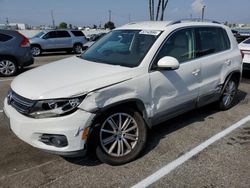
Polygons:
[[32,106],[35,104],[35,101],[26,99],[12,90],[9,91],[7,100],[9,105],[22,114],[28,114]]

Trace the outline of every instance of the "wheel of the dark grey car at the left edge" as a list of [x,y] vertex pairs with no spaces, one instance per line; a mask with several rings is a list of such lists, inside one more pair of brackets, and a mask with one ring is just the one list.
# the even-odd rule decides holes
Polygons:
[[0,76],[14,76],[18,71],[18,65],[15,59],[10,57],[0,58]]

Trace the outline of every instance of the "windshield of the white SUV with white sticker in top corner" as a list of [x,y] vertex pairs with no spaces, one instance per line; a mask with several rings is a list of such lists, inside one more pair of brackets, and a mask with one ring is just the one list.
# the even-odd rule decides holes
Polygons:
[[114,30],[94,43],[82,59],[136,67],[154,44],[161,31],[148,30]]

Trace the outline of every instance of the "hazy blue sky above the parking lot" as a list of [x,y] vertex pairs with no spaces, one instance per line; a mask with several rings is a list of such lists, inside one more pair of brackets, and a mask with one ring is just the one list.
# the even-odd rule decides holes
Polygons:
[[[200,18],[204,5],[206,19],[250,23],[250,0],[169,0],[164,20]],[[56,25],[103,25],[109,10],[116,26],[149,20],[148,0],[0,0],[0,23],[52,25],[51,10]]]

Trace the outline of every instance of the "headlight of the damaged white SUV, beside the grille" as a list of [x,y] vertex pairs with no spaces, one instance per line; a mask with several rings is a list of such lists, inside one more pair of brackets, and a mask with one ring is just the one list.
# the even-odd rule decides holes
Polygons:
[[83,99],[84,97],[77,97],[37,101],[31,108],[29,116],[33,118],[49,118],[67,115],[76,111]]

